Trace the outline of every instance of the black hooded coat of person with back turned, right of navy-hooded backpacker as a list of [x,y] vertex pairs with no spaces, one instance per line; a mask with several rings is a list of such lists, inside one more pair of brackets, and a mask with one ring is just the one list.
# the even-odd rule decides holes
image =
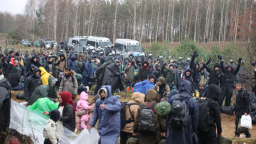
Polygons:
[[[209,132],[206,134],[207,136],[216,136],[216,126],[217,133],[222,133],[221,127],[221,112],[218,104],[218,98],[220,94],[220,88],[215,84],[210,84],[209,89],[207,91],[206,99],[209,100],[209,113],[211,117],[211,128]],[[198,134],[200,135],[200,134]]]

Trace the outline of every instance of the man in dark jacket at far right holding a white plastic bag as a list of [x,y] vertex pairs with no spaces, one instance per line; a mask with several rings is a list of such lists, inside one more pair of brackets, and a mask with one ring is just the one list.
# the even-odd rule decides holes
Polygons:
[[[236,83],[236,109],[234,111],[234,115],[236,116],[236,132],[235,136],[240,137],[240,133],[238,132],[238,122],[240,118],[242,118],[242,115],[249,115],[250,108],[249,108],[249,96],[247,94],[247,91],[243,87],[243,84],[241,82]],[[247,138],[251,137],[251,134],[249,133],[249,130],[245,132],[245,135]]]

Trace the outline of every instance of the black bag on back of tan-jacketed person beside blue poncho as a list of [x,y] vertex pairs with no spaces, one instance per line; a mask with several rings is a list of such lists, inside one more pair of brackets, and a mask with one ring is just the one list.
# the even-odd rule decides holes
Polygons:
[[[121,110],[120,110],[120,121],[121,121],[121,129],[125,127],[126,124],[129,124],[131,122],[135,121],[134,116],[131,114],[131,109],[130,106],[131,105],[137,105],[137,103],[129,103],[127,104],[127,102],[121,102]],[[129,118],[129,120],[126,120],[126,115],[125,115],[125,111],[126,111],[126,106],[128,106],[131,118]]]

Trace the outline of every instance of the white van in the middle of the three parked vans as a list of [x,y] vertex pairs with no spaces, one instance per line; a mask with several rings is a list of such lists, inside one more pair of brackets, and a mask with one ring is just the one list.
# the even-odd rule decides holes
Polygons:
[[105,48],[105,46],[112,45],[110,39],[107,37],[93,37],[89,36],[87,37],[87,46],[91,45],[94,46],[95,48],[98,48],[99,46],[101,48]]

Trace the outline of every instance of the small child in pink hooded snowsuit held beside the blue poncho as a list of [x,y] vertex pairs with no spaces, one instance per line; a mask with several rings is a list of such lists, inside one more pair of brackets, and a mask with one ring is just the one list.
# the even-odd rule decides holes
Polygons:
[[77,130],[82,130],[87,128],[86,123],[89,120],[89,115],[88,115],[88,110],[91,109],[89,107],[89,103],[87,101],[88,99],[88,94],[85,92],[81,92],[80,94],[80,99],[77,102],[77,114],[78,113],[83,113],[80,117],[77,115]]

